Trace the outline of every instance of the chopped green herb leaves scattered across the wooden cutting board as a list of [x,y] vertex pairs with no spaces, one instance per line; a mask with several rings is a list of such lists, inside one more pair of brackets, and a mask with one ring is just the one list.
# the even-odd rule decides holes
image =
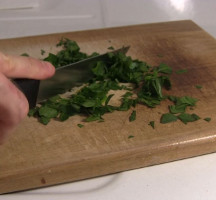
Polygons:
[[[88,57],[80,51],[78,44],[69,39],[62,39],[58,44],[62,49],[57,54],[49,53],[45,61],[51,62],[55,67],[77,62]],[[45,53],[44,50],[41,51]],[[77,93],[68,98],[55,96],[43,102],[40,106],[29,111],[29,116],[34,116],[43,124],[48,124],[52,118],[65,121],[73,115],[85,115],[86,122],[103,121],[103,115],[113,111],[127,111],[135,108],[136,104],[143,104],[154,108],[162,100],[169,99],[172,105],[169,112],[161,116],[161,123],[181,120],[188,123],[200,119],[196,114],[186,113],[187,107],[194,107],[197,99],[183,96],[165,96],[163,90],[171,89],[170,75],[172,69],[166,64],[152,67],[146,62],[134,60],[130,56],[119,53],[109,53],[109,63],[102,61],[92,68],[94,77]],[[185,71],[183,71],[185,72]],[[182,73],[182,72],[181,72]],[[120,83],[129,83],[133,87],[126,87]],[[124,90],[119,106],[110,105],[110,100],[115,94],[110,91]],[[133,110],[129,121],[136,120],[136,111]],[[206,121],[210,121],[206,118]],[[155,127],[154,121],[149,125]],[[79,124],[79,127],[83,125]]]

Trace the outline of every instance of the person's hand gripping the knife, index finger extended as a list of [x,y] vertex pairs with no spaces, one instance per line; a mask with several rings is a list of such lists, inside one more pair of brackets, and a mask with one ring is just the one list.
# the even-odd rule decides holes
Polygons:
[[25,95],[10,78],[46,79],[55,68],[48,62],[24,56],[5,55],[0,52],[0,143],[28,114]]

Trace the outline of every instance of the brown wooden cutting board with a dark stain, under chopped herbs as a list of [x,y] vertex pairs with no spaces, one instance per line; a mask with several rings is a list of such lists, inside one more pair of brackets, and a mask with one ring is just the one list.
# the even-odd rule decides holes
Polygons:
[[[160,124],[168,112],[164,101],[155,109],[136,107],[137,119],[129,122],[132,110],[104,116],[105,122],[82,122],[82,116],[66,122],[53,120],[44,126],[26,118],[0,146],[0,193],[66,183],[120,171],[156,165],[216,151],[216,41],[192,21],[155,23],[73,33],[1,40],[1,51],[55,52],[62,38],[78,42],[81,50],[104,53],[109,46],[130,45],[128,55],[151,65],[161,62],[174,71],[172,94],[199,99],[193,112],[201,118],[187,125],[178,121]],[[197,89],[195,85],[202,85]],[[4,98],[4,97],[1,97]],[[155,121],[155,129],[148,125]],[[83,128],[77,126],[84,124]],[[133,138],[128,138],[133,135]]]

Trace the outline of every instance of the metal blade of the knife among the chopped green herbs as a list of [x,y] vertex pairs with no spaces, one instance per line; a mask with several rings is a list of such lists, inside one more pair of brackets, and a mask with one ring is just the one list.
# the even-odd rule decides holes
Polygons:
[[[108,53],[127,53],[129,48],[127,46]],[[37,103],[86,83],[93,76],[92,66],[97,61],[108,61],[108,53],[57,68],[53,77],[40,82]]]

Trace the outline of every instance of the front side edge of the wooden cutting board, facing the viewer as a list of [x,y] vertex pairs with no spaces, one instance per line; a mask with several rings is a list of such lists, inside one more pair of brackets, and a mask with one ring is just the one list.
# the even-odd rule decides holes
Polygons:
[[[175,145],[162,146],[161,148],[155,148],[149,151],[143,151],[141,148],[137,148],[133,152],[121,151],[115,154],[115,156],[106,154],[102,155],[101,159],[93,157],[86,159],[85,162],[82,160],[61,163],[55,166],[43,167],[43,170],[35,168],[23,174],[20,173],[0,178],[0,194],[96,178],[214,152],[216,152],[216,140],[213,142],[212,138],[209,137],[206,137],[204,140],[186,142],[184,145],[176,143]],[[84,173],[82,174],[80,171]],[[56,176],[53,174],[56,174]],[[62,178],[62,174],[64,178]],[[55,178],[53,179],[53,177]],[[32,182],[29,182],[29,180],[32,180]]]

